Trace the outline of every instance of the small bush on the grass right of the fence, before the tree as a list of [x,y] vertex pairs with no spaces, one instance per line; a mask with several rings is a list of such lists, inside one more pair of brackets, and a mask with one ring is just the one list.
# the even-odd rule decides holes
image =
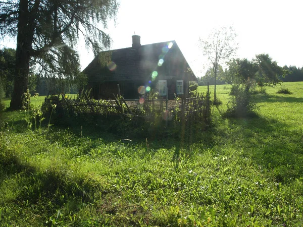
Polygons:
[[234,84],[231,87],[231,101],[227,103],[227,117],[247,117],[256,115],[257,104],[252,96],[255,91],[254,81],[247,80],[244,84]]

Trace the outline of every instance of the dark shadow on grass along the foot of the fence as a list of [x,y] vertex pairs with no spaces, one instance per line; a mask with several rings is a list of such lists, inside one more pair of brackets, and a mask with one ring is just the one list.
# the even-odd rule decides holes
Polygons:
[[[134,147],[146,146],[146,141],[150,149],[171,149],[176,146],[184,148],[196,142],[208,146],[213,143],[211,131],[201,128],[203,125],[199,127],[195,124],[188,124],[185,130],[181,130],[181,126],[175,127],[170,122],[168,128],[164,128],[164,121],[160,122],[162,125],[157,125],[144,120],[138,122],[123,120],[119,116],[112,116],[110,119],[70,118],[64,122],[56,120],[54,122],[56,125],[53,127],[54,133],[58,129],[67,130],[78,138],[86,137],[92,141],[102,140],[105,143],[119,141]],[[51,140],[60,139],[64,138],[58,134],[55,139]]]

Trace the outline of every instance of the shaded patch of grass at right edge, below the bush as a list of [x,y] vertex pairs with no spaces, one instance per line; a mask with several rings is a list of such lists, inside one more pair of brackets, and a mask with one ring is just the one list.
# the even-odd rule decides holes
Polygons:
[[[263,168],[270,169],[277,182],[303,177],[303,132],[262,117],[229,119],[225,133],[229,143],[242,147]],[[227,135],[229,134],[229,135]]]

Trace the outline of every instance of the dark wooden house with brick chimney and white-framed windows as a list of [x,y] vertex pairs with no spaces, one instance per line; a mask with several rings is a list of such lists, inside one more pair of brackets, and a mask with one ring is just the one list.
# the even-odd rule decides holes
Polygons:
[[[196,81],[175,41],[141,45],[132,36],[132,47],[103,51],[84,69],[87,88],[95,99],[113,94],[137,99],[145,92],[159,92],[163,98],[186,95],[189,81]],[[119,84],[119,88],[118,88]]]

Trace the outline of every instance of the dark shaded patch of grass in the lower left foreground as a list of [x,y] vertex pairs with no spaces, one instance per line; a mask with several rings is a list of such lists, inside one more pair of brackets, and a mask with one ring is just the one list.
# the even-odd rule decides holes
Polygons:
[[[6,180],[15,179],[18,176],[17,188],[15,188],[18,195],[15,201],[11,202],[20,204],[22,201],[27,201],[30,204],[36,204],[50,200],[51,207],[54,208],[70,200],[89,202],[96,191],[102,192],[103,195],[109,192],[93,175],[70,175],[68,169],[62,166],[52,166],[51,169],[42,171],[22,161],[10,150],[2,150],[0,156],[2,154],[6,157],[0,160],[2,176],[5,176]],[[2,185],[2,187],[5,186]]]

